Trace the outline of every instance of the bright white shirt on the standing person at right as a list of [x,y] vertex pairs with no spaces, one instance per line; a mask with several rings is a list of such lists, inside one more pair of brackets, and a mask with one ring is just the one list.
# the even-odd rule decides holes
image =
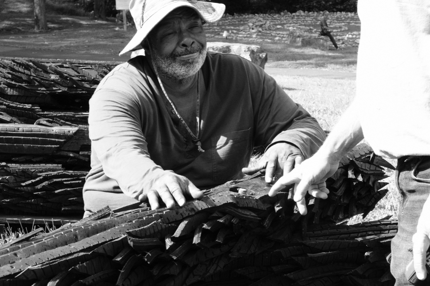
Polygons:
[[364,137],[384,157],[430,155],[430,0],[359,0],[358,13]]

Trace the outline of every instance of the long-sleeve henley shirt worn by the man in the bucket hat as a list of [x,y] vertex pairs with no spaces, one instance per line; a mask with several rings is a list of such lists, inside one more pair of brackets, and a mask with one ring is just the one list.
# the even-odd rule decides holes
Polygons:
[[235,55],[206,56],[200,77],[199,152],[144,56],[120,64],[90,100],[91,171],[84,191],[138,198],[164,170],[203,188],[241,174],[254,146],[292,143],[305,158],[325,139],[317,121],[275,79]]

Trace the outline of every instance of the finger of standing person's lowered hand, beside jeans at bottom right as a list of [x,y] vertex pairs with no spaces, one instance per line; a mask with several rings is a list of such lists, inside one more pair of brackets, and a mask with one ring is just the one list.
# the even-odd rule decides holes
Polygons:
[[427,277],[426,255],[429,249],[430,239],[424,233],[415,233],[413,241],[413,267],[415,268],[416,277],[424,280]]

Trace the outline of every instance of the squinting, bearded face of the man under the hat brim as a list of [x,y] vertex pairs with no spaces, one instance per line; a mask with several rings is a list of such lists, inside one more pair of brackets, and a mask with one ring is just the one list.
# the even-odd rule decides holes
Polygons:
[[205,61],[206,34],[202,20],[191,8],[173,10],[147,38],[157,71],[173,81],[195,75]]

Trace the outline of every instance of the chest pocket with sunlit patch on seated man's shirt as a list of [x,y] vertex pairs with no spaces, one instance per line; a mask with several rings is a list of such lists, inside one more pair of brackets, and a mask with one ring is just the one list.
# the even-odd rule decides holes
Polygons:
[[252,153],[252,127],[214,136],[212,141],[213,180],[226,182],[240,174]]

